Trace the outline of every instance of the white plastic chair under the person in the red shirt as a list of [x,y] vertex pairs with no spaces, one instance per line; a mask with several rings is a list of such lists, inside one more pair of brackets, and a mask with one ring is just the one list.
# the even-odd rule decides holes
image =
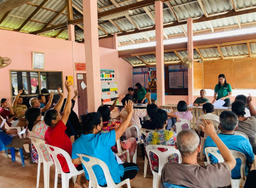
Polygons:
[[[77,175],[81,175],[82,173],[84,173],[84,170],[77,171],[77,169],[75,169],[75,166],[72,163],[71,157],[65,150],[55,147],[55,146],[51,146],[49,144],[45,144],[45,146],[48,149],[48,151],[51,153],[51,156],[53,156],[53,160],[55,161],[54,162],[55,163],[55,188],[57,188],[58,174],[61,174],[62,188],[69,187],[69,179],[71,179],[71,177],[73,177],[73,183],[75,185]],[[51,150],[51,149],[53,149],[53,150]],[[64,173],[62,171],[61,164],[59,163],[59,160],[57,158],[58,154],[65,157],[65,160],[67,161],[67,165],[69,167],[69,173]]]

